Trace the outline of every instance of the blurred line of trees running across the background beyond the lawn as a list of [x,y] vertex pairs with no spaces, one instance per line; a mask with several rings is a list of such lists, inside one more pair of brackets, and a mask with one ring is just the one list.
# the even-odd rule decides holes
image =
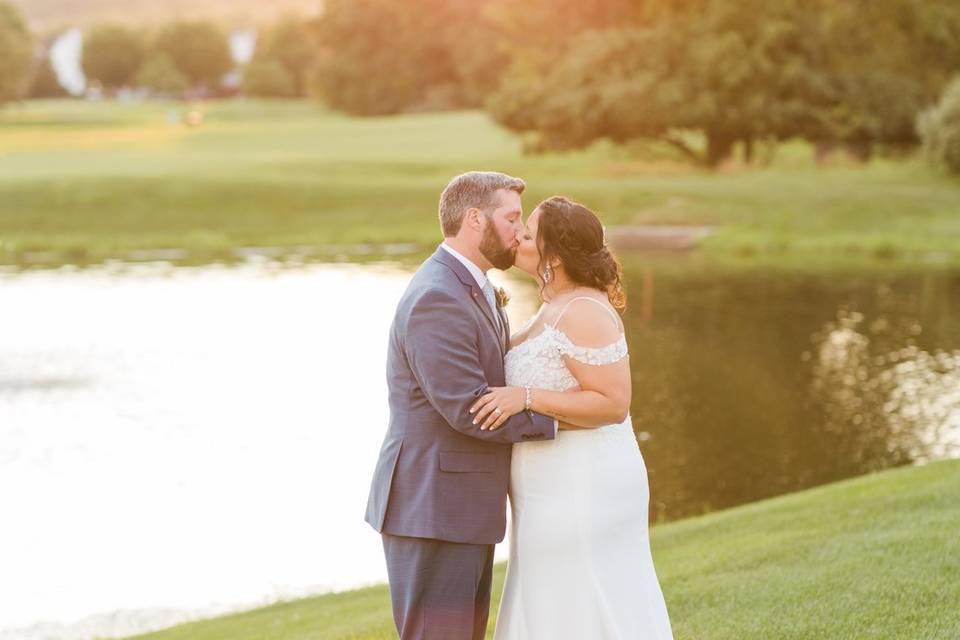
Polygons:
[[[0,2],[0,101],[24,38]],[[216,88],[232,66],[210,23],[84,38],[107,90]],[[243,91],[354,115],[483,108],[531,150],[656,140],[716,166],[788,139],[867,159],[922,138],[950,164],[958,72],[956,0],[326,0],[262,30]]]

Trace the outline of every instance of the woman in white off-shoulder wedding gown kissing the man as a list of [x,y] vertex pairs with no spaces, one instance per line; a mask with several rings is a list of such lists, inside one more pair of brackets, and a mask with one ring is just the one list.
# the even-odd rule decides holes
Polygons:
[[596,215],[558,196],[530,215],[516,266],[540,284],[544,304],[511,338],[508,386],[471,412],[485,429],[524,410],[580,428],[513,447],[510,558],[494,638],[672,638],[629,416],[620,265]]

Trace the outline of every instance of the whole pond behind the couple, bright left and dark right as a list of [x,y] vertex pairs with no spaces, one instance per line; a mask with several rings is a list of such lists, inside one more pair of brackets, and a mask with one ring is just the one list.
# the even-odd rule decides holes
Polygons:
[[[960,273],[625,267],[652,520],[960,455]],[[0,274],[0,638],[384,580],[362,516],[410,273]],[[493,275],[519,326],[536,289]]]

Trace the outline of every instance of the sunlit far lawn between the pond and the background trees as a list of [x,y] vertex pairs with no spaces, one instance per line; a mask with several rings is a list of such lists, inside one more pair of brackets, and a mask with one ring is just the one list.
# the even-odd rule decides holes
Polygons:
[[793,144],[768,168],[709,173],[655,146],[525,156],[480,112],[357,119],[310,102],[228,101],[203,105],[200,127],[168,122],[184,108],[0,110],[0,263],[37,252],[84,262],[162,248],[208,260],[242,246],[428,247],[447,180],[498,169],[527,180],[528,211],[564,193],[608,224],[716,225],[702,250],[715,258],[960,264],[960,181],[918,158],[817,167]]

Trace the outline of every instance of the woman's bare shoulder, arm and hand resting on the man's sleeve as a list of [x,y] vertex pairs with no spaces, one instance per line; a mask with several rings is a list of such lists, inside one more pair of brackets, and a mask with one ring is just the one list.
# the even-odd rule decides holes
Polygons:
[[[564,355],[567,368],[577,379],[573,391],[531,389],[529,407],[527,391],[519,387],[491,388],[471,407],[474,421],[482,430],[496,429],[511,415],[529,409],[557,418],[576,427],[602,427],[623,422],[630,409],[630,364],[621,358],[610,364],[588,364],[577,359],[578,348],[607,347],[620,339],[620,327],[609,313],[593,302],[582,301],[570,306],[558,328],[570,339],[569,353]],[[495,409],[500,409],[496,413]],[[561,429],[569,426],[561,425]]]

